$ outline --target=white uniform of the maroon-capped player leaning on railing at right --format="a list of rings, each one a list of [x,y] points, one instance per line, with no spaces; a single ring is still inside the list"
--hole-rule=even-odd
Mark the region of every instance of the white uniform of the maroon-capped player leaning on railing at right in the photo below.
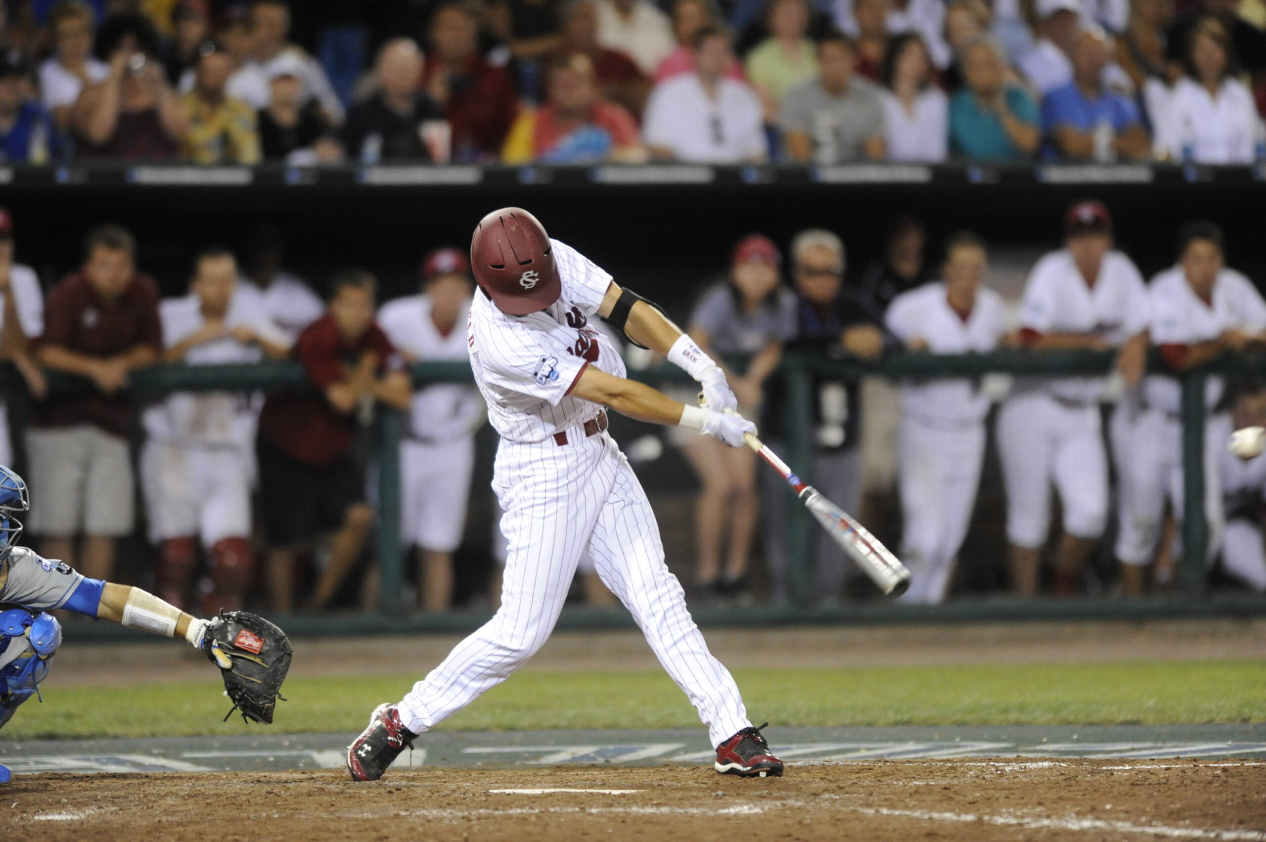
[[[1029,273],[1020,327],[1037,333],[1098,336],[1120,346],[1147,329],[1143,277],[1125,254],[1109,251],[1087,284],[1067,249],[1051,252]],[[1098,538],[1108,520],[1108,457],[1099,399],[1104,377],[1018,377],[998,417],[1006,486],[1006,537],[1039,547],[1050,527],[1051,486],[1063,505],[1063,529]],[[1124,412],[1120,408],[1118,412]],[[1115,430],[1128,430],[1113,423]],[[1115,447],[1114,455],[1119,456]]]

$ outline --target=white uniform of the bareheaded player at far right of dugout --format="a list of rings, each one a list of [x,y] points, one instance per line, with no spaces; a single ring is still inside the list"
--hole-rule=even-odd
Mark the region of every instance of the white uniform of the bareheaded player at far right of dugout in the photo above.
[[[1266,329],[1266,301],[1252,282],[1239,272],[1222,270],[1213,284],[1210,301],[1203,301],[1191,289],[1181,267],[1166,270],[1152,279],[1152,343],[1190,346],[1212,342],[1231,328]],[[1212,410],[1222,398],[1222,377],[1209,376],[1205,408]],[[1175,518],[1182,517],[1182,419],[1181,386],[1172,377],[1151,375],[1143,386],[1146,409],[1138,422],[1132,460],[1131,517],[1122,519],[1117,557],[1127,565],[1151,561],[1169,498]],[[1208,557],[1213,558],[1222,542],[1224,515],[1220,462],[1225,453],[1229,425],[1223,414],[1210,414],[1205,423],[1204,514],[1209,524]],[[1146,455],[1146,458],[1144,458]]]

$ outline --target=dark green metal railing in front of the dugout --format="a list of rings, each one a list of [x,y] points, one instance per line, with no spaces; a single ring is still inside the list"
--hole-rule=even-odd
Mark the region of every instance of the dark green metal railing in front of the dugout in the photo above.
[[[825,360],[822,357],[787,353],[781,363],[781,376],[787,385],[787,419],[786,419],[786,458],[794,465],[805,481],[812,482],[813,443],[812,443],[812,381],[815,375],[829,375],[843,380],[855,380],[867,376],[884,376],[895,380],[903,377],[963,377],[980,376],[985,374],[1010,374],[1010,375],[1103,375],[1113,365],[1113,352],[1090,351],[1022,351],[1008,349],[986,355],[928,355],[928,353],[901,353],[885,357],[876,362],[863,362],[856,358]],[[1153,603],[1156,605],[1188,605],[1190,613],[1194,603],[1204,595],[1205,585],[1205,546],[1208,543],[1208,524],[1204,514],[1204,425],[1205,425],[1205,380],[1210,375],[1257,375],[1266,374],[1266,356],[1238,355],[1217,360],[1212,363],[1194,368],[1182,374],[1169,371],[1163,363],[1153,355],[1148,370],[1151,374],[1162,374],[1179,380],[1182,387],[1181,419],[1184,427],[1182,462],[1185,477],[1184,517],[1182,517],[1182,562],[1179,574],[1179,588],[1175,596]],[[424,362],[414,365],[410,375],[415,385],[429,382],[471,382],[470,366],[465,362]],[[630,376],[646,382],[657,384],[666,381],[689,381],[686,375],[675,366],[657,366],[641,371],[632,371]],[[65,394],[77,390],[91,389],[90,382],[82,377],[49,372],[49,390],[54,394]],[[20,377],[9,367],[0,367],[0,389],[6,395],[10,406],[18,412],[13,413],[16,419],[22,419],[23,403],[29,400]],[[139,370],[130,376],[130,390],[134,403],[141,403],[176,390],[282,390],[310,389],[304,371],[298,362],[265,362],[260,365],[222,365],[222,366],[185,366],[161,365]],[[381,574],[381,593],[379,609],[381,615],[392,617],[389,625],[391,628],[454,628],[465,629],[472,625],[473,620],[456,619],[446,620],[432,617],[419,619],[417,617],[400,624],[400,617],[409,612],[403,601],[404,585],[404,553],[400,539],[400,465],[399,447],[404,428],[404,414],[380,406],[376,419],[377,456],[379,456],[379,519],[376,533],[376,556]],[[14,438],[20,438],[19,425],[14,428]],[[37,503],[38,504],[38,503]],[[791,506],[791,522],[789,523],[790,541],[790,570],[789,585],[793,595],[801,601],[808,601],[812,594],[812,542],[813,524],[801,506]],[[1263,613],[1266,600],[1234,601],[1231,605],[1232,613]],[[1119,606],[1118,606],[1119,608]],[[1125,606],[1124,613],[1133,614],[1137,608]],[[914,609],[913,612],[910,609]],[[923,609],[923,610],[920,610]],[[1103,610],[1103,609],[1099,609]],[[1206,608],[1196,609],[1204,613]],[[862,606],[846,608],[839,612],[806,612],[795,606],[779,606],[767,609],[763,614],[768,622],[794,622],[808,619],[846,619],[866,618],[885,619],[889,614],[905,618],[917,618],[922,614],[928,617],[957,617],[961,610],[953,606]],[[967,612],[971,613],[970,609]],[[1055,612],[1056,615],[1087,615],[1094,614],[1085,608],[1072,608]],[[1122,613],[1122,610],[1115,610]],[[986,612],[991,615],[1050,615],[1050,612],[1025,612],[1015,604],[1004,603],[995,612]],[[705,614],[706,617],[706,614]],[[744,612],[744,618],[753,617]],[[600,613],[580,612],[573,614],[573,622],[581,624],[609,624],[609,618],[603,618]],[[99,625],[99,624],[97,624]],[[360,623],[341,628],[354,629],[381,629],[382,619],[361,615]],[[298,628],[306,628],[309,632],[327,631],[327,627],[318,627],[315,623],[298,624]]]

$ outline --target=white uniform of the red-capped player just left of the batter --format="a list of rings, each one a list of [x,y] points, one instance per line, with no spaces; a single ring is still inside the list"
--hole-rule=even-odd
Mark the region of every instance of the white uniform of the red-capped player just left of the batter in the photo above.
[[[379,310],[379,327],[414,360],[467,361],[470,304],[456,327],[441,333],[430,318],[430,298],[410,295]],[[473,386],[438,382],[413,393],[409,429],[400,442],[400,527],[409,543],[452,552],[461,543],[475,468],[475,430],[484,401]]]

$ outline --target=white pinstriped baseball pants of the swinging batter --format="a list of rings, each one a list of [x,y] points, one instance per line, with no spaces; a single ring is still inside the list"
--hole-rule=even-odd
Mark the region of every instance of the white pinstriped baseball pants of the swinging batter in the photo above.
[[[752,723],[729,671],[708,651],[685,593],[663,563],[655,513],[628,460],[605,432],[570,442],[501,442],[492,489],[509,541],[501,608],[457,644],[400,703],[422,733],[496,686],[549,637],[581,552],[637,622],[660,663],[690,698],[713,745]]]

